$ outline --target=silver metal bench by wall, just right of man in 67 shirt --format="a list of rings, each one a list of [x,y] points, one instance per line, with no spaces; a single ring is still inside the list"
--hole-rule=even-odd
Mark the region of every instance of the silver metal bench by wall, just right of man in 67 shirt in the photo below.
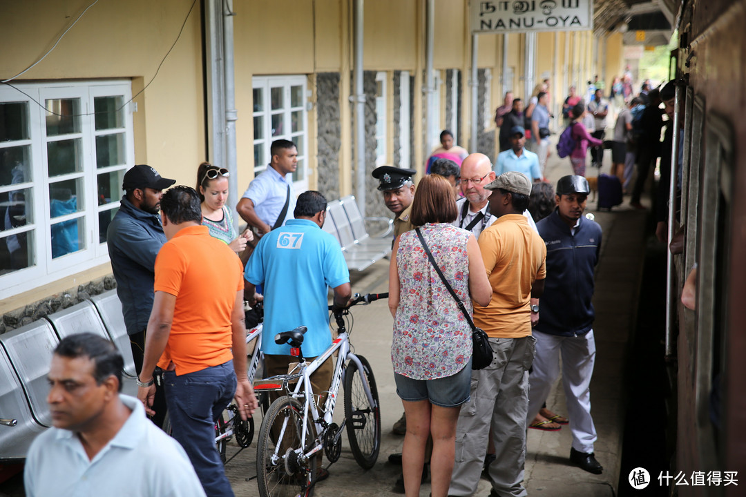
[[[387,244],[381,244],[383,240],[369,238],[367,232],[360,238],[355,236],[342,200],[335,200],[327,205],[327,218],[327,223],[331,221],[334,224],[337,239],[342,245],[345,262],[350,270],[365,270],[391,253],[390,240]]]

